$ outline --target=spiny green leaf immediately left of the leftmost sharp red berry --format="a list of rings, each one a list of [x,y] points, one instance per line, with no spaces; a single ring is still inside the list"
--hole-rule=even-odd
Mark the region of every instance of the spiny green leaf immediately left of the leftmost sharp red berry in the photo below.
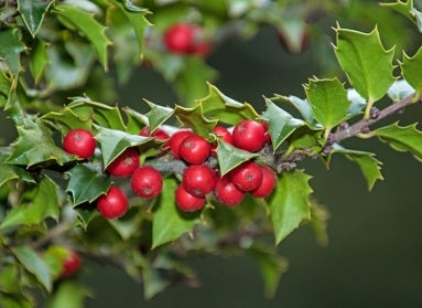
[[[7,163],[24,164],[28,167],[41,162],[55,161],[59,166],[75,158],[58,148],[51,136],[51,130],[39,119],[24,119],[18,126],[18,140],[12,145],[12,152]]]

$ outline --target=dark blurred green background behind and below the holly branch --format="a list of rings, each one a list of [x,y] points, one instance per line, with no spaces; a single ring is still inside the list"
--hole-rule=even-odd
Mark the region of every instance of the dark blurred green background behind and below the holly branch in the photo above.
[[[307,78],[323,74],[316,50],[311,44],[303,54],[291,55],[272,29],[262,29],[251,40],[218,46],[207,62],[219,72],[216,85],[226,95],[260,109],[262,95],[304,96]],[[329,56],[334,60],[334,53]],[[121,88],[119,104],[141,108],[142,98],[176,103],[170,86],[149,68],[139,68]],[[421,108],[411,106],[396,119],[418,121]],[[368,192],[358,167],[343,157],[334,157],[329,170],[320,161],[300,164],[313,176],[315,197],[331,212],[329,243],[318,246],[305,226],[282,242],[279,251],[289,259],[289,270],[273,299],[264,298],[255,262],[234,255],[193,261],[199,288],[181,284],[151,300],[122,272],[91,265],[84,273],[94,293],[87,307],[422,307],[422,166],[377,140],[346,145],[351,144],[377,152],[386,180]]]

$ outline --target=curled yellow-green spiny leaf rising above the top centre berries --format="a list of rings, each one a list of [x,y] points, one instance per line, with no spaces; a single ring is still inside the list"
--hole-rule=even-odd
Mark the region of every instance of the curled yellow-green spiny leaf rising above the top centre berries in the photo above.
[[[259,118],[250,104],[242,104],[226,96],[212,84],[208,84],[208,95],[199,99],[199,103],[205,117],[218,119],[229,125],[236,125],[244,119]]]

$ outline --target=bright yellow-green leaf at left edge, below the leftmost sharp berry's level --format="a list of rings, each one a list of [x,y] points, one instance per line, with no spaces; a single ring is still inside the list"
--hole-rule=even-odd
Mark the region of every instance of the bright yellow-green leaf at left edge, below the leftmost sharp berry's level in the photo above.
[[[46,217],[58,219],[58,188],[44,177],[40,183],[23,193],[19,206],[13,208],[0,224],[0,229],[17,225],[40,224]]]

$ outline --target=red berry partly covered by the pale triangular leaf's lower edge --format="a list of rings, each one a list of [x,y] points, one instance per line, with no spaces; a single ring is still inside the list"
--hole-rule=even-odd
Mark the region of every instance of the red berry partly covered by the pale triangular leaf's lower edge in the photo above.
[[[241,191],[252,191],[262,182],[262,168],[248,160],[229,172],[230,181]]]

